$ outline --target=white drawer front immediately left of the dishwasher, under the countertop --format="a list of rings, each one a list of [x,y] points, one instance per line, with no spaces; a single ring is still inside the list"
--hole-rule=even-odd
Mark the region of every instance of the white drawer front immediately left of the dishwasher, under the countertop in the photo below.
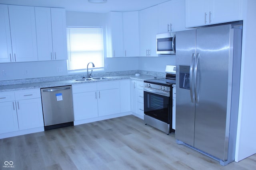
[[[41,98],[40,89],[22,90],[22,91],[15,92],[16,100],[25,100],[25,99],[34,99],[34,98]]]

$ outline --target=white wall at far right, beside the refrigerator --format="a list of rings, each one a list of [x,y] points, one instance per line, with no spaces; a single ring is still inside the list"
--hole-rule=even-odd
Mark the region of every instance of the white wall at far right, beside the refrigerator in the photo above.
[[[256,1],[242,0],[242,2],[244,24],[236,162],[256,153],[256,88],[254,87],[256,84]]]

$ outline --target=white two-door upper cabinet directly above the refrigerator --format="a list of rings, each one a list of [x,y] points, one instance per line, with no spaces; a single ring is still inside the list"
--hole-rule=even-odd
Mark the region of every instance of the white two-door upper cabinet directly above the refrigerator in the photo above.
[[[241,0],[185,0],[186,27],[241,20]]]

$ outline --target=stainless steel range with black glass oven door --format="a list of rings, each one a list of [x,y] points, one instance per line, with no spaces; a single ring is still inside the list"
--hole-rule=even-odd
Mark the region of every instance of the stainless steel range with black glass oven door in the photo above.
[[[166,66],[166,78],[144,80],[144,123],[169,134],[172,129],[172,84],[176,66]]]

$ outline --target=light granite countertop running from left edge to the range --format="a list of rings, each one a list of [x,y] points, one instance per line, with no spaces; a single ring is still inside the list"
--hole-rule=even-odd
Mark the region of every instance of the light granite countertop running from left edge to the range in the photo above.
[[[122,75],[122,76],[108,76],[110,79],[104,80],[89,80],[85,82],[76,82],[74,80],[58,80],[58,81],[46,81],[46,82],[32,82],[32,83],[23,83],[23,84],[10,84],[0,86],[0,92],[10,92],[16,90],[29,90],[36,88],[49,88],[49,87],[57,87],[57,86],[68,86],[74,84],[84,84],[84,83],[96,83],[96,82],[106,82],[106,81],[114,81],[114,80],[150,80],[154,78],[164,78],[161,76],[151,76],[151,75],[140,75],[135,76],[132,75]]]

